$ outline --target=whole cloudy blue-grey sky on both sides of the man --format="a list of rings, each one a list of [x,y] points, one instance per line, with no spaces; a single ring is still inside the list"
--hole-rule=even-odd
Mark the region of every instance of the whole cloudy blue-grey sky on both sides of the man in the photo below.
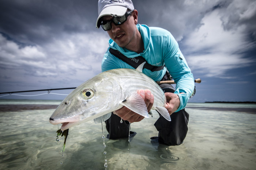
[[[195,79],[202,79],[189,102],[256,101],[255,0],[133,4],[140,24],[173,34]],[[95,27],[97,5],[97,0],[0,0],[0,92],[77,87],[100,73],[109,37]]]

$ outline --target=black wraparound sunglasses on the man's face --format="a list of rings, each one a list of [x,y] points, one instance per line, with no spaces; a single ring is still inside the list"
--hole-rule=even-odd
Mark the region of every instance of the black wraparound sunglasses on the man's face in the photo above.
[[[127,17],[132,14],[132,11],[127,11],[123,16],[114,16],[108,21],[101,21],[101,27],[103,30],[108,31],[112,29],[111,22],[113,22],[115,25],[121,25],[127,20]]]

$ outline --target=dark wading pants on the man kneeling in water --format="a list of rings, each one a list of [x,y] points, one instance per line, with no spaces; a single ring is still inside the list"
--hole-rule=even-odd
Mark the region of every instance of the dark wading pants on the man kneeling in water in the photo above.
[[[160,87],[164,92],[175,91],[170,84],[161,84]],[[185,109],[182,109],[179,112],[173,113],[170,117],[172,121],[169,122],[160,115],[155,122],[155,128],[159,132],[158,141],[168,146],[180,145],[188,132],[189,114]],[[123,121],[123,123],[120,123],[120,120],[120,117],[112,113],[111,117],[105,121],[106,129],[109,132],[109,139],[121,139],[129,136],[129,122]],[[136,132],[130,133],[131,136],[136,134]]]

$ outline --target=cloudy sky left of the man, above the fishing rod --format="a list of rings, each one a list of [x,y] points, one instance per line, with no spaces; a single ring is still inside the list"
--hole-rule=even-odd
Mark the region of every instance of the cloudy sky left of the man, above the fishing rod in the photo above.
[[[97,1],[0,0],[1,90],[78,86],[99,73],[108,35],[97,13]]]

